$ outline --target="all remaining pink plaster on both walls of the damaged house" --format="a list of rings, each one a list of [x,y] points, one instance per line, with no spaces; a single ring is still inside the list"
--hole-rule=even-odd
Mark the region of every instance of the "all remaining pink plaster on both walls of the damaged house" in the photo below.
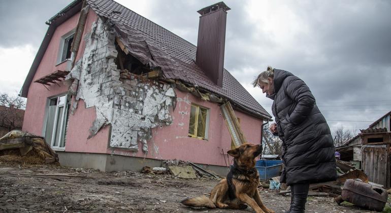
[[[68,87],[59,83],[51,85],[49,91],[41,84],[34,83],[35,80],[53,73],[60,69],[63,64],[56,66],[57,55],[60,47],[60,38],[77,25],[79,14],[74,15],[69,20],[57,27],[53,38],[42,58],[37,69],[33,82],[30,85],[26,106],[26,113],[23,122],[23,130],[41,135],[45,118],[45,107],[48,97],[57,96],[66,93]],[[84,34],[91,29],[92,23],[97,19],[96,14],[90,10],[85,25]],[[85,42],[82,39],[77,60],[83,55]],[[66,141],[67,152],[86,152],[86,153],[107,153],[125,156],[146,157],[152,159],[178,159],[192,161],[194,163],[204,163],[211,165],[225,166],[224,155],[231,148],[231,137],[225,126],[218,104],[202,101],[200,98],[176,90],[177,105],[172,113],[173,124],[170,126],[157,127],[152,130],[153,138],[148,141],[149,152],[145,155],[141,151],[130,152],[123,149],[108,148],[110,126],[102,128],[92,138],[87,139],[89,128],[95,119],[95,109],[85,109],[83,100],[78,101],[78,108],[74,115],[70,114],[69,126]],[[208,139],[188,137],[188,126],[190,118],[190,104],[199,104],[209,109],[209,129]],[[248,141],[257,144],[260,141],[260,128],[262,120],[253,118],[246,114],[236,111],[237,117],[241,120],[242,130]],[[232,158],[230,158],[232,159]],[[229,163],[229,162],[227,162]]]

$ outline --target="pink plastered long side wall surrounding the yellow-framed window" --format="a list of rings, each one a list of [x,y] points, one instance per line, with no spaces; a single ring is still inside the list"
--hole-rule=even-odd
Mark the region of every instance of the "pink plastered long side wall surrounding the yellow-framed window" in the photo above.
[[[141,149],[136,154],[110,148],[107,150],[107,153],[153,159],[178,159],[194,163],[225,166],[222,153],[224,152],[226,158],[226,152],[231,149],[231,136],[221,115],[219,105],[210,101],[202,101],[190,93],[184,93],[179,90],[176,90],[176,94],[177,105],[172,114],[173,124],[152,130],[153,138],[148,141],[149,152],[147,155]],[[191,103],[196,103],[209,109],[209,137],[207,140],[187,136]],[[235,114],[241,120],[241,127],[247,141],[259,144],[260,128],[263,121],[238,111],[235,111]]]

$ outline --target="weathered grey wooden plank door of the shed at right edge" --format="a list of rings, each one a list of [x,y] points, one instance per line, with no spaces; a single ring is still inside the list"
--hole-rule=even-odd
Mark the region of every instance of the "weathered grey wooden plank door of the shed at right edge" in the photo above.
[[[363,169],[371,182],[387,184],[387,147],[386,145],[365,145],[362,147]]]

